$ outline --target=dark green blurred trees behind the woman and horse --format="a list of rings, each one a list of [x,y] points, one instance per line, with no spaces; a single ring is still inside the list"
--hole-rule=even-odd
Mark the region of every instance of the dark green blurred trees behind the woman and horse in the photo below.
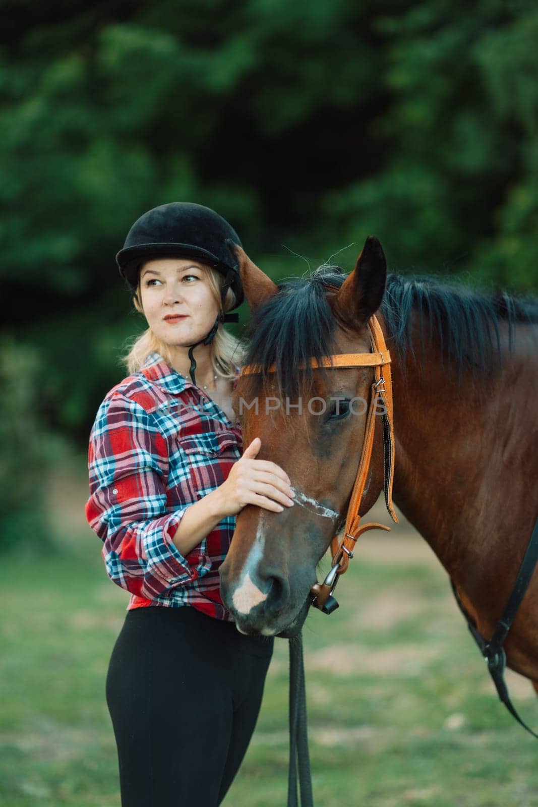
[[[304,272],[292,252],[317,266],[342,250],[350,270],[372,233],[392,270],[538,288],[536,4],[7,0],[0,15],[5,324],[40,357],[48,424],[79,445],[144,328],[114,258],[157,204],[214,207],[274,278]]]

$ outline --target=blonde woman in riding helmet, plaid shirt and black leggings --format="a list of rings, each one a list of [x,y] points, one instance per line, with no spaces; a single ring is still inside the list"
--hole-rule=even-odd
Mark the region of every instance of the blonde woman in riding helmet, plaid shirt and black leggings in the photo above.
[[[106,700],[123,807],[215,807],[252,736],[273,638],[236,630],[219,566],[246,504],[293,504],[290,479],[241,456],[230,406],[240,345],[224,331],[243,292],[215,211],[171,203],[133,224],[117,261],[148,322],[90,434],[87,520],[131,593]]]

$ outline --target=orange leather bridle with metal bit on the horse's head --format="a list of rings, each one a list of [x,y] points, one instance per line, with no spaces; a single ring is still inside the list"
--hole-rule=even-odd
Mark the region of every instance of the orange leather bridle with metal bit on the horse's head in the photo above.
[[[333,592],[336,583],[345,571],[348,570],[349,561],[353,557],[355,545],[369,529],[385,529],[390,532],[390,527],[378,524],[377,521],[360,525],[362,495],[365,490],[365,482],[369,473],[370,462],[372,460],[373,435],[375,421],[377,417],[382,417],[383,422],[383,454],[384,454],[384,489],[386,508],[395,524],[398,518],[394,512],[392,504],[392,484],[394,479],[394,419],[392,403],[392,379],[390,375],[390,352],[386,349],[385,337],[382,328],[375,316],[370,317],[368,323],[369,337],[372,344],[372,353],[337,353],[323,358],[321,362],[311,359],[311,367],[373,367],[374,381],[371,387],[371,396],[368,415],[366,416],[365,439],[362,445],[361,460],[357,468],[357,477],[349,501],[348,515],[346,517],[344,537],[341,539],[336,535],[331,541],[332,568],[323,583],[315,583],[311,587],[314,595],[312,605],[319,608],[324,613],[332,613],[338,608],[338,603],[334,599]],[[274,364],[269,367],[269,372],[274,372]],[[256,365],[248,365],[242,368],[241,375],[259,373],[261,370]],[[378,404],[382,407],[377,411]]]

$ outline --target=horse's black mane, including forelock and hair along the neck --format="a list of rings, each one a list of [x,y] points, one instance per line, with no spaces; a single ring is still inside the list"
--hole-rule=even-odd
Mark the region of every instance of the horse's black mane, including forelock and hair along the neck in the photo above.
[[[275,394],[280,398],[292,398],[311,387],[307,360],[336,352],[336,321],[327,303],[327,285],[340,287],[346,277],[339,266],[323,264],[307,277],[282,282],[280,293],[252,314],[244,363],[260,366],[261,375],[248,377],[252,383],[249,394],[254,394],[260,382],[265,383],[273,362],[277,366]],[[456,370],[459,381],[465,370],[484,374],[502,366],[499,324],[508,324],[511,349],[516,323],[538,323],[538,299],[505,291],[488,294],[432,275],[389,274],[380,313],[398,358],[409,352],[417,361],[411,341],[412,312],[419,312],[421,366],[424,341],[436,339],[442,360],[447,359],[447,371]],[[298,370],[302,362],[307,366],[303,371]]]

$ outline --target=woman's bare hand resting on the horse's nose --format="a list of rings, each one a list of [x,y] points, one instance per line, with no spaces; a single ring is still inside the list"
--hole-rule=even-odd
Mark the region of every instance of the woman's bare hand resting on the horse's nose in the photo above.
[[[256,504],[273,512],[282,512],[282,505],[294,504],[290,477],[275,462],[255,459],[260,449],[261,439],[254,437],[243,456],[231,466],[226,482],[217,488],[222,503],[220,509],[225,515],[236,516],[246,504]]]

